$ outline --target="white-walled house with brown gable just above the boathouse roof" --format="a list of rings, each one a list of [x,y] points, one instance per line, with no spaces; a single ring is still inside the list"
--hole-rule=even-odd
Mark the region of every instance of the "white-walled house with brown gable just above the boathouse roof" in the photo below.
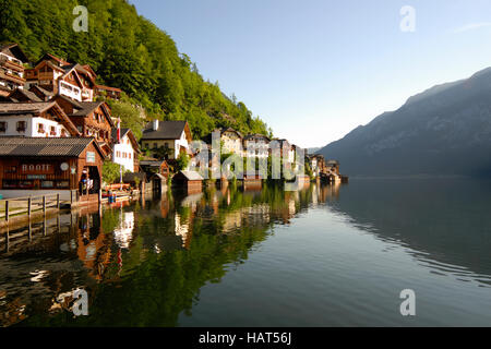
[[[0,136],[80,135],[75,124],[55,101],[0,104]]]

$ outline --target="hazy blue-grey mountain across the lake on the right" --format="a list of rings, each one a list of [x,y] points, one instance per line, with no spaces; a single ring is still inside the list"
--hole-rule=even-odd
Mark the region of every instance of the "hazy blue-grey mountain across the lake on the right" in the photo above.
[[[491,176],[491,68],[412,96],[319,154],[350,176]]]

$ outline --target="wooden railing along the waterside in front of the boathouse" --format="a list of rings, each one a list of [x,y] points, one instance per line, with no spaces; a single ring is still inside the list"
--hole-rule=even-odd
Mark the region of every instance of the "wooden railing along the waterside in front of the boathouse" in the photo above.
[[[0,200],[0,219],[7,222],[13,216],[32,216],[35,212],[46,215],[48,208],[60,209],[60,194],[47,194],[43,196],[26,196]]]

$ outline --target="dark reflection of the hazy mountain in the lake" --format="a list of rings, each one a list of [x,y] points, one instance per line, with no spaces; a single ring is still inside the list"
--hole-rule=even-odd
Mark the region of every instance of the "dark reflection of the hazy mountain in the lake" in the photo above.
[[[331,205],[352,224],[403,243],[442,273],[491,275],[491,182],[358,180]],[[458,274],[458,273],[457,273]]]

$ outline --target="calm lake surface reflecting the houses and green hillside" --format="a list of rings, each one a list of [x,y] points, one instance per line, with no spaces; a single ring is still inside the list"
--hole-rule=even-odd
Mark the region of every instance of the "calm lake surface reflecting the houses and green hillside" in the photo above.
[[[490,181],[354,179],[64,214],[1,232],[0,325],[491,326],[490,212]]]

